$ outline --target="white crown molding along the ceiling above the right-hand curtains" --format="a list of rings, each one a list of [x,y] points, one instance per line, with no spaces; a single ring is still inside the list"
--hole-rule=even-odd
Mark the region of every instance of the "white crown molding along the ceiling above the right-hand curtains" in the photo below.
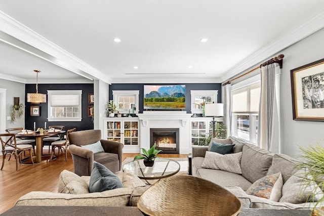
[[[244,72],[245,70],[252,68],[257,64],[261,64],[267,58],[273,57],[273,55],[277,54],[278,52],[324,28],[323,20],[324,12],[321,12],[308,21],[304,22],[302,25],[295,28],[290,33],[276,39],[274,42],[272,42],[272,44],[264,47],[260,51],[246,58],[245,61],[240,62],[230,70],[226,71],[225,75],[221,77],[222,82],[227,81],[235,75]],[[285,55],[285,53],[283,54]]]

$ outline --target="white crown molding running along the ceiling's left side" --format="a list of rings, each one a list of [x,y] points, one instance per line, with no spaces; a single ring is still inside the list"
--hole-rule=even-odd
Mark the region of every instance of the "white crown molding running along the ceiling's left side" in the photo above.
[[[88,65],[84,61],[66,52],[62,48],[55,45],[50,40],[46,39],[42,35],[39,35],[35,31],[31,30],[27,26],[23,25],[22,23],[18,22],[17,20],[13,19],[12,17],[8,16],[2,11],[0,11],[0,31],[5,32],[10,36],[15,37],[25,42],[26,44],[54,57],[54,59],[45,59],[53,64],[56,64],[78,75],[82,75],[82,73],[86,73],[89,74],[88,77],[92,76],[95,79],[100,79],[106,83],[111,83],[111,78],[106,74],[102,73],[101,71],[93,68],[92,66]],[[16,47],[20,48],[19,46]],[[71,65],[73,65],[74,67]]]

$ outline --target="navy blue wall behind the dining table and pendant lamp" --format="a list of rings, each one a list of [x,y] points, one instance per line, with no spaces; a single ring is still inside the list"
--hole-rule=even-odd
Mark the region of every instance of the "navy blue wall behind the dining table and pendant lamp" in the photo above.
[[[38,127],[44,127],[45,121],[47,127],[51,125],[64,125],[64,130],[76,127],[77,131],[83,131],[86,129],[93,129],[92,118],[88,116],[88,106],[91,106],[88,101],[88,94],[93,94],[93,84],[38,84],[38,93],[47,94],[47,90],[82,90],[82,121],[48,121],[48,103],[31,104],[25,101],[25,128],[33,129],[33,124],[36,122],[36,129]],[[35,84],[26,84],[25,92],[36,93]],[[39,106],[40,115],[30,116],[30,106]]]

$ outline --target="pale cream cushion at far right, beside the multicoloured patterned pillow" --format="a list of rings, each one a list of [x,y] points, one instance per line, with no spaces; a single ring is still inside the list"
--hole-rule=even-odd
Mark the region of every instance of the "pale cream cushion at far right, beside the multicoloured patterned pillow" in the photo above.
[[[318,188],[316,182],[305,184],[305,172],[298,170],[291,176],[287,182],[282,186],[282,196],[280,202],[290,203],[304,203],[304,202],[317,202],[324,196],[323,192]],[[307,181],[308,182],[308,181]],[[314,200],[308,200],[313,191],[316,191]]]

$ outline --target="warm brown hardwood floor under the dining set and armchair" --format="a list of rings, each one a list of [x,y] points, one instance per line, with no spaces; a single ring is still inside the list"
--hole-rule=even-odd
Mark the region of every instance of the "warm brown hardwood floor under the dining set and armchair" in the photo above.
[[[44,153],[48,150],[44,149]],[[14,206],[16,200],[22,195],[31,191],[57,192],[58,180],[61,171],[64,169],[74,171],[71,154],[68,152],[67,161],[64,155],[51,162],[44,162],[34,165],[19,165],[16,171],[15,158],[8,161],[6,157],[3,170],[0,170],[0,214]],[[126,157],[134,157],[134,154],[123,154]],[[187,157],[185,154],[159,154],[159,157]],[[2,156],[0,161],[2,163]]]

